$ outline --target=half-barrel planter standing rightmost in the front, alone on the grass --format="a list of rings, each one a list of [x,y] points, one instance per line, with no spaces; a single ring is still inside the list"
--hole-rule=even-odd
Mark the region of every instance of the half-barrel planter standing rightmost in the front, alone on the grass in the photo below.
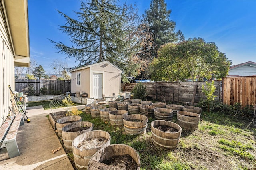
[[[168,129],[168,131],[159,130],[159,127]],[[170,121],[155,120],[151,122],[152,142],[155,146],[164,150],[175,150],[177,148],[181,131],[182,128],[178,124]]]

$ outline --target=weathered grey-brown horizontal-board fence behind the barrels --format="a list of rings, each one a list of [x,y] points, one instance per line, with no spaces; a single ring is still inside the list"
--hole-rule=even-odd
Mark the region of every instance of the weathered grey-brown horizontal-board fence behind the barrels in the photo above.
[[[146,86],[146,95],[152,97],[157,101],[171,102],[171,103],[185,103],[196,104],[200,99],[206,99],[202,92],[202,84],[205,82],[150,82],[143,83]],[[214,85],[216,91],[214,95],[215,100],[221,100],[221,82],[215,81]],[[136,83],[122,84],[123,91],[132,91]]]

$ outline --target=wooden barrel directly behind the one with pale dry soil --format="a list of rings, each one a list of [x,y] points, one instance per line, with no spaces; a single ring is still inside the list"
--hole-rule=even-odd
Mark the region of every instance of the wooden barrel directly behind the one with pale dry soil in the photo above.
[[[84,129],[84,130],[83,130]],[[91,122],[75,122],[62,128],[63,144],[67,150],[72,150],[72,142],[76,136],[93,130]]]

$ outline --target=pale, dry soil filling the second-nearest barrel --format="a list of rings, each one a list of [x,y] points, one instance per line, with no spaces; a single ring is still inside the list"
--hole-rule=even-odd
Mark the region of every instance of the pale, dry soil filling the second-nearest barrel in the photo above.
[[[90,138],[87,140],[83,140],[82,143],[78,144],[78,148],[80,149],[92,149],[102,146],[104,143],[108,142],[107,138],[100,137],[100,138]]]

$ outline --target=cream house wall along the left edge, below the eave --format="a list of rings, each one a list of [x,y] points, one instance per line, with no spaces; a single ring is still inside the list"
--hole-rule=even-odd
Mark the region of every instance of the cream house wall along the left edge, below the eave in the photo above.
[[[14,90],[14,55],[11,43],[6,30],[6,22],[0,12],[0,126],[9,113],[10,90],[8,85]]]

